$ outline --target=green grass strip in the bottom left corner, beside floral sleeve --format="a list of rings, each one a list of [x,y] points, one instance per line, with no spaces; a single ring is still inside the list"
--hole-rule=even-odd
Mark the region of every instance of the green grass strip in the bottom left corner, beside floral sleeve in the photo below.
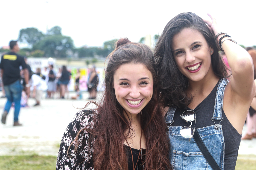
[[[0,156],[0,169],[49,170],[55,169],[57,157],[32,155]]]

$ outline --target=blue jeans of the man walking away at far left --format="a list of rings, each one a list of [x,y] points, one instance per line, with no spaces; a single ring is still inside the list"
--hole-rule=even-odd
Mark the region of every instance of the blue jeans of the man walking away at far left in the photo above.
[[[4,111],[9,113],[12,103],[15,103],[14,106],[14,121],[18,121],[19,110],[20,110],[20,100],[21,100],[21,92],[22,86],[20,81],[17,80],[12,84],[4,86],[5,96],[7,97],[7,102],[4,107]]]

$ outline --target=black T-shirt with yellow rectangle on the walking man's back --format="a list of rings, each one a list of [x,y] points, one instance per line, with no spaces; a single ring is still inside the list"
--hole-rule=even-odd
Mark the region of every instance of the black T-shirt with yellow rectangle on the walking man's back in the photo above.
[[[15,52],[8,52],[2,55],[0,69],[4,70],[3,83],[4,85],[12,84],[20,78],[20,69],[27,68],[24,57],[16,54]]]

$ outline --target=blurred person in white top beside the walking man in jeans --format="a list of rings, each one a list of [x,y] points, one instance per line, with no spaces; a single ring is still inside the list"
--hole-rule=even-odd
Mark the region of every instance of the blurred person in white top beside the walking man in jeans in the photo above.
[[[40,68],[37,68],[37,72],[40,72]],[[42,75],[43,76],[43,75]],[[31,91],[32,91],[32,97],[36,99],[36,104],[34,106],[39,106],[40,101],[42,99],[43,91],[48,89],[48,86],[45,82],[45,80],[37,74],[32,74],[31,79]]]

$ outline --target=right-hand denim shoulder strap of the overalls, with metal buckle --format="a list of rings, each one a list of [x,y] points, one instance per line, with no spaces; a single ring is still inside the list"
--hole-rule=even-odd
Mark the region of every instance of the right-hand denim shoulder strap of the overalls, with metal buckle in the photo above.
[[[227,84],[228,84],[228,80],[226,79],[221,79],[219,81],[212,120],[223,120],[222,105],[223,105],[224,90]]]

